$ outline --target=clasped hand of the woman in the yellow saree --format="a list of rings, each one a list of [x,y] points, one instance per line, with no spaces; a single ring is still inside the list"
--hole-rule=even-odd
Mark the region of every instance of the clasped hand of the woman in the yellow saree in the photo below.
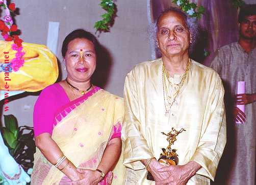
[[[85,184],[85,185],[97,185],[99,181],[102,180],[102,177],[100,177],[100,173],[96,170],[85,170],[85,169],[79,169],[78,172],[80,172],[80,180],[73,181],[71,184]]]

